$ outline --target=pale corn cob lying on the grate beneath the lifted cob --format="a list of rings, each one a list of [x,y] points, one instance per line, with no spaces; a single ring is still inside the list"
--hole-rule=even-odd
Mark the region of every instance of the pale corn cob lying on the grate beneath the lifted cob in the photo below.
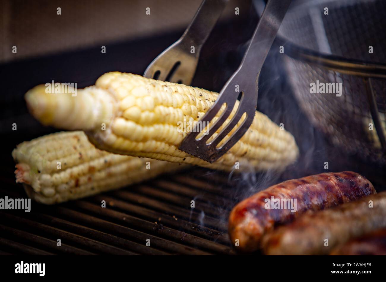
[[[58,132],[13,150],[16,182],[30,198],[54,204],[117,189],[185,165],[98,150],[83,131]]]

